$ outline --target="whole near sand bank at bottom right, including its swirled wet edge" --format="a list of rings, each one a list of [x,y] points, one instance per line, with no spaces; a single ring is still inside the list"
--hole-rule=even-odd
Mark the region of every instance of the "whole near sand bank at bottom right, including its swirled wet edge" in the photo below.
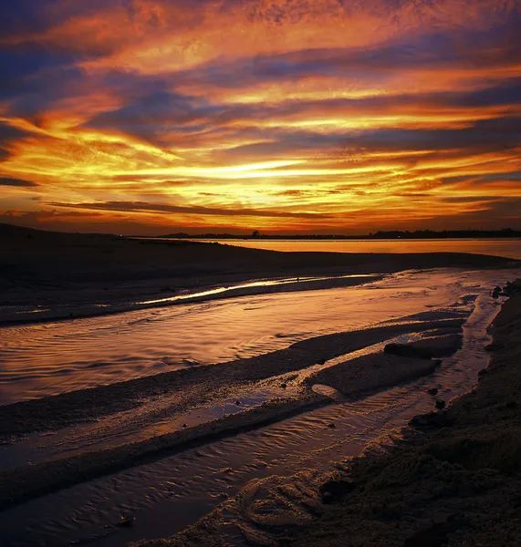
[[[140,545],[521,545],[520,332],[516,295],[495,320],[490,366],[448,410],[413,418],[386,449],[370,447],[328,476],[252,481],[185,532]]]

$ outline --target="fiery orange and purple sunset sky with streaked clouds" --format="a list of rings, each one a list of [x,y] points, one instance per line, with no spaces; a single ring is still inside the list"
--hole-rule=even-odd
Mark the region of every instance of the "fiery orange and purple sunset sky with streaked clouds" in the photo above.
[[[0,4],[0,222],[521,229],[521,0]]]

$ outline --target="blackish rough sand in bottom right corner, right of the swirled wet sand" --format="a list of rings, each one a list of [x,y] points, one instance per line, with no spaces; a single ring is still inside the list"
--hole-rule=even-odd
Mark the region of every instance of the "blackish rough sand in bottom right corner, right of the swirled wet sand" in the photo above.
[[[495,321],[478,386],[437,419],[413,419],[389,453],[355,459],[353,490],[281,541],[305,546],[521,545],[521,295]]]

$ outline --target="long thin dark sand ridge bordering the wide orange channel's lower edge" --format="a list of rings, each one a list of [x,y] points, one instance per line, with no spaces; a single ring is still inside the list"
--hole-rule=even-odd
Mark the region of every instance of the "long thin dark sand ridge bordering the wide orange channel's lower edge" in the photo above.
[[[234,386],[295,372],[404,333],[460,327],[464,319],[443,312],[431,321],[404,321],[362,331],[308,338],[287,349],[219,365],[193,366],[127,382],[22,401],[0,407],[0,438],[55,430],[139,407],[147,397],[175,396],[176,408],[222,397]]]

